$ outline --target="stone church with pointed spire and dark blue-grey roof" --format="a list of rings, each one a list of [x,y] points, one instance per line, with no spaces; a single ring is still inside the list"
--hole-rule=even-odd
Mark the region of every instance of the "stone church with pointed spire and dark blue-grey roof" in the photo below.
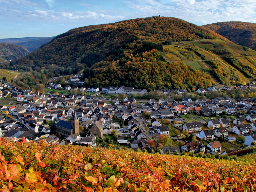
[[[71,118],[71,122],[60,120],[56,124],[56,133],[57,135],[60,134],[66,138],[69,135],[79,133],[79,120],[76,117],[76,111],[74,111],[74,115]]]

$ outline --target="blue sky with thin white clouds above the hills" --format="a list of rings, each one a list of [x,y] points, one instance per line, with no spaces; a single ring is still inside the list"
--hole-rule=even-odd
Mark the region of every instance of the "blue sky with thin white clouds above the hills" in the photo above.
[[[57,36],[76,27],[151,16],[196,25],[256,22],[256,0],[0,0],[0,39]]]

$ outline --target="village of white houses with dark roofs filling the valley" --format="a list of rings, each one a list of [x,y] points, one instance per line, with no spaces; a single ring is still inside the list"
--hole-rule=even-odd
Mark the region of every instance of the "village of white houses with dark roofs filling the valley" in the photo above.
[[[72,79],[72,78],[71,78]],[[60,84],[52,83],[54,89]],[[209,87],[196,92],[252,89],[254,85]],[[182,100],[160,98],[138,101],[146,89],[125,86],[80,87],[63,89],[82,94],[53,94],[21,90],[2,84],[0,99],[16,101],[1,105],[0,137],[44,140],[49,144],[129,148],[134,151],[180,154],[195,152],[225,155],[255,146],[255,97],[217,97],[196,99],[187,90],[172,92]],[[57,90],[58,91],[58,90]],[[84,95],[92,92],[91,95]],[[113,95],[113,99],[103,94]],[[184,96],[186,95],[186,97]]]

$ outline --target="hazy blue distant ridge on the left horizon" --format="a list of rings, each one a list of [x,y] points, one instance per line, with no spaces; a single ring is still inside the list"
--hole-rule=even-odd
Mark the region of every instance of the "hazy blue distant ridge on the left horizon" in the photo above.
[[[0,43],[13,43],[25,47],[29,52],[39,49],[41,45],[48,43],[54,37],[25,37],[0,39]]]

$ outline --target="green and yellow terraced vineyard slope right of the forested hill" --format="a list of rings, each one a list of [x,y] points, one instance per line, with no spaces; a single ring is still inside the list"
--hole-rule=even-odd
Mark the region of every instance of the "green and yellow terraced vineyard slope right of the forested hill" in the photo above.
[[[219,85],[242,85],[256,81],[253,71],[256,66],[256,51],[253,49],[220,39],[173,42],[163,48],[167,61],[181,61],[187,66],[208,73]],[[242,70],[225,59],[226,57],[236,58]]]

